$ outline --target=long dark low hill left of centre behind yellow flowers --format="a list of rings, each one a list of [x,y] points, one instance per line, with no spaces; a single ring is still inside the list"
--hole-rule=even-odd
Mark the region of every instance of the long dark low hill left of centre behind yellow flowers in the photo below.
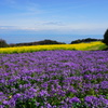
[[[43,45],[43,44],[66,44],[64,42],[57,42],[54,40],[42,40],[36,42],[26,42],[26,43],[12,43],[10,46],[23,46],[23,45]]]

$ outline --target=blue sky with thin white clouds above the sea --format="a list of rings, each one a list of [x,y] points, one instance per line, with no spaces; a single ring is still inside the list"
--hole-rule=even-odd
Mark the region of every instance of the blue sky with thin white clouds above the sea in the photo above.
[[[108,0],[0,0],[0,32],[103,35]]]

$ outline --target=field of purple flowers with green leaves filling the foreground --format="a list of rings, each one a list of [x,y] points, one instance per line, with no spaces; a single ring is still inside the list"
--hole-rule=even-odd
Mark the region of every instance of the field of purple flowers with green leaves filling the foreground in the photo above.
[[[0,54],[0,108],[108,108],[108,51]]]

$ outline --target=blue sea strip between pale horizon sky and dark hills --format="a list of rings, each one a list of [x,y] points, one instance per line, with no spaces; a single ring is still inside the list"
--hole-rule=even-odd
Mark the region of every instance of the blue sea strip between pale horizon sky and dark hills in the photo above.
[[[37,33],[0,33],[0,39],[6,41],[6,43],[26,43],[26,42],[35,42],[42,40],[54,40],[58,42],[71,43],[73,40],[78,39],[103,39],[103,35],[37,35]]]

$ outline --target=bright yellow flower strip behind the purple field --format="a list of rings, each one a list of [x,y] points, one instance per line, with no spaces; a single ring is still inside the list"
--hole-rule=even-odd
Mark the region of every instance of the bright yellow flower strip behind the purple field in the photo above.
[[[12,53],[26,53],[26,52],[38,52],[38,51],[51,51],[51,50],[100,50],[106,45],[100,42],[90,43],[78,43],[78,44],[50,44],[50,45],[29,45],[29,46],[14,46],[14,48],[0,48],[0,53],[12,54]]]

